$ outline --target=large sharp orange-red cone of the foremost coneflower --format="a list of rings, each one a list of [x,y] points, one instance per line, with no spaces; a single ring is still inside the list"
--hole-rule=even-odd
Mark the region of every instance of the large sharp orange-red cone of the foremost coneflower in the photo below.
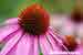
[[[49,14],[39,4],[28,7],[19,15],[19,24],[32,35],[44,34],[49,26]]]

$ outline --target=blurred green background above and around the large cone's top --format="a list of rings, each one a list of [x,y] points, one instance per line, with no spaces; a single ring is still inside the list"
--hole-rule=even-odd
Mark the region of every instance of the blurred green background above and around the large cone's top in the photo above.
[[[38,2],[50,13],[69,13],[75,0],[0,0],[0,22],[17,18],[25,7]]]

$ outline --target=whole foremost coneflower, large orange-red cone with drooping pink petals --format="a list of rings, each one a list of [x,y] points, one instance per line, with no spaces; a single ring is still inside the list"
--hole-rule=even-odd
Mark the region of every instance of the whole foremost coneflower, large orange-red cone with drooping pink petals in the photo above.
[[[18,18],[6,21],[0,29],[0,55],[49,55],[60,51],[60,40],[49,25],[49,14],[39,4],[28,7]]]

